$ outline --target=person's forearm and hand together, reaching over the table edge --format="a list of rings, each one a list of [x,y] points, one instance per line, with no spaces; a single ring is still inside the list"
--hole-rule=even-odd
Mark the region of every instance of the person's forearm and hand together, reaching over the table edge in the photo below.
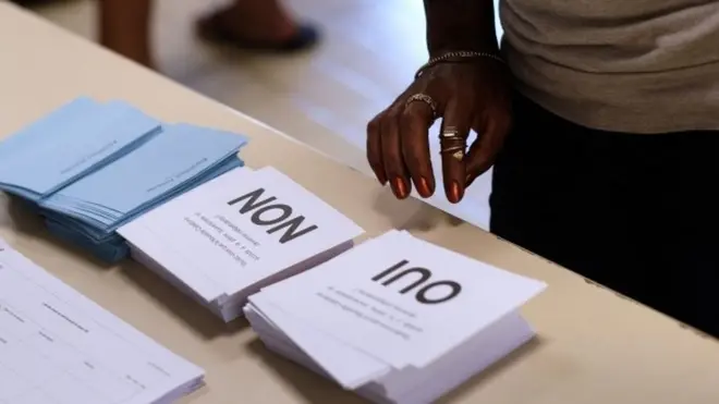
[[[449,51],[498,53],[492,0],[425,0],[427,46],[430,57]],[[390,184],[402,199],[412,186],[422,197],[435,192],[428,130],[431,108],[406,103],[415,94],[431,97],[442,118],[442,131],[478,139],[463,158],[442,155],[447,199],[459,203],[464,189],[495,161],[511,125],[511,102],[505,66],[491,58],[439,63],[409,88],[367,126],[367,159],[379,182]]]

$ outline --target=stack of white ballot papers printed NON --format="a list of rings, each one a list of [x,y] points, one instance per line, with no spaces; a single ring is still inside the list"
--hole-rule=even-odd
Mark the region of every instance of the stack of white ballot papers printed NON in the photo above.
[[[231,321],[248,295],[351,248],[363,230],[267,167],[232,170],[118,232],[137,261]]]

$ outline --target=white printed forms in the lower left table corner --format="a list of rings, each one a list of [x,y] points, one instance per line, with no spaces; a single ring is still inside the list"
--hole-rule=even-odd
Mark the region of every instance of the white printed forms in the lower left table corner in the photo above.
[[[203,379],[0,241],[0,403],[171,403]]]

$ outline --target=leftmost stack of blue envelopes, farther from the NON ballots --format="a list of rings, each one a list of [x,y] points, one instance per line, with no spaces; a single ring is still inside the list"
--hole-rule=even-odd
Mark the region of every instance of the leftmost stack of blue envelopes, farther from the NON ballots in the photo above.
[[[0,143],[0,188],[38,201],[160,131],[134,107],[80,98]]]

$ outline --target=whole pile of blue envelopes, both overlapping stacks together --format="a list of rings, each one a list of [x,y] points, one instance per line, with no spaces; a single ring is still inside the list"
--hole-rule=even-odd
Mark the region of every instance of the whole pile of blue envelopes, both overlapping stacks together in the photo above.
[[[114,262],[129,253],[119,227],[242,166],[245,144],[80,98],[0,143],[0,189],[38,206],[51,233]]]

